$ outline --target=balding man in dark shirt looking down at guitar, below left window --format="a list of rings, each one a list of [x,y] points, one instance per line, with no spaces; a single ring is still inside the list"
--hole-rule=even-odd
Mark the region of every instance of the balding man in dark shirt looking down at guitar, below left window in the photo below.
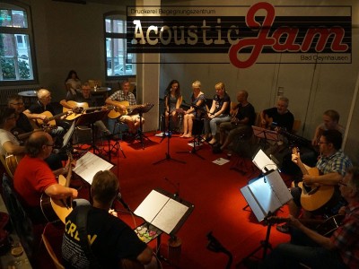
[[[39,89],[37,94],[38,100],[33,103],[30,108],[23,111],[23,114],[25,114],[29,119],[41,119],[46,122],[48,117],[43,114],[43,112],[48,111],[53,116],[56,115],[55,108],[51,105],[51,92],[47,89]],[[66,125],[66,122],[57,120],[56,128],[51,129],[50,134],[53,137],[57,137],[57,145],[61,145],[62,143],[62,138],[64,134],[66,134],[66,129],[69,127]]]

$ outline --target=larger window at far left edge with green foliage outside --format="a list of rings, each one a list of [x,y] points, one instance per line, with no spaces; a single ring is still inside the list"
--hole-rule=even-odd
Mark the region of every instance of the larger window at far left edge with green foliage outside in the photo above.
[[[0,3],[0,84],[34,81],[30,9],[16,1]]]

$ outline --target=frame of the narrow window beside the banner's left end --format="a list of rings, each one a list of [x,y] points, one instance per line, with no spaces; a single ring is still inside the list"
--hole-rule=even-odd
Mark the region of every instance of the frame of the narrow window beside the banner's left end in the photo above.
[[[107,48],[108,48],[108,42],[107,39],[124,39],[124,56],[127,57],[127,33],[123,32],[123,33],[115,33],[115,32],[107,32],[106,31],[106,20],[109,19],[109,17],[112,16],[118,16],[117,20],[121,20],[121,18],[123,17],[123,21],[126,22],[126,16],[127,13],[126,12],[121,12],[121,11],[114,11],[114,12],[109,12],[109,13],[104,13],[103,14],[103,33],[104,33],[104,41],[103,41],[103,48],[104,48],[104,61],[105,61],[105,77],[107,81],[116,81],[116,80],[124,80],[127,78],[133,78],[136,77],[136,74],[126,74],[126,64],[124,65],[124,71],[125,74],[121,74],[121,75],[108,75],[107,70],[108,70],[108,56],[107,56]],[[126,30],[125,30],[126,31]],[[109,47],[111,48],[111,52],[113,53],[113,42],[109,43]],[[135,68],[136,65],[132,64]]]

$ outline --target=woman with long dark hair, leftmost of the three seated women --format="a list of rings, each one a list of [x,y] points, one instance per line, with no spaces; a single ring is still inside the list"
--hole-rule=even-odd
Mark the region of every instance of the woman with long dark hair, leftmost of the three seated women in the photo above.
[[[178,125],[178,109],[182,103],[182,95],[180,94],[180,82],[172,80],[167,86],[166,91],[164,92],[164,103],[166,106],[166,111],[164,112],[166,130],[169,129],[169,118],[170,114],[172,117],[173,126]]]

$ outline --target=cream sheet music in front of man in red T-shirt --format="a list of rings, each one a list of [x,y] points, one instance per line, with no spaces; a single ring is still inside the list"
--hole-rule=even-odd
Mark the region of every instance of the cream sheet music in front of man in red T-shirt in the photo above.
[[[73,171],[91,185],[93,176],[98,171],[112,168],[113,164],[109,163],[109,161],[103,160],[92,152],[87,152],[76,161],[76,167]]]

